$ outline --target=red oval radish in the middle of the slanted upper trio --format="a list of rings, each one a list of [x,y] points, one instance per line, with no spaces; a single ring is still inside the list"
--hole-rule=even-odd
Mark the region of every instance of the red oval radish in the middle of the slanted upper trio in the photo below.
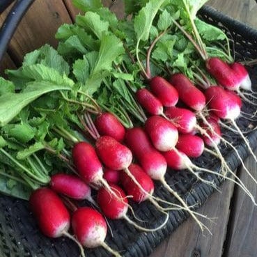
[[[178,102],[178,91],[163,77],[153,77],[149,82],[150,91],[162,102],[164,107],[175,106]]]

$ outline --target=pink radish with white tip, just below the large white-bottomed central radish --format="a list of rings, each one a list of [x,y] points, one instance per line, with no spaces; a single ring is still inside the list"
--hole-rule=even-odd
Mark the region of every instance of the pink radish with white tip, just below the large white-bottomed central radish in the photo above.
[[[192,162],[189,157],[187,157],[187,155],[182,153],[180,150],[169,150],[162,153],[162,155],[166,159],[168,167],[171,169],[181,170],[192,166]]]

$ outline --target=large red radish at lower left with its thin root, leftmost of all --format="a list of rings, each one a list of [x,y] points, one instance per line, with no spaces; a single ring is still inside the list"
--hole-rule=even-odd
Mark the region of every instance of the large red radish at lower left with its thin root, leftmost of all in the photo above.
[[[81,256],[85,257],[81,244],[68,233],[70,213],[56,193],[47,187],[36,189],[29,198],[29,204],[42,233],[54,238],[69,237],[77,243]]]

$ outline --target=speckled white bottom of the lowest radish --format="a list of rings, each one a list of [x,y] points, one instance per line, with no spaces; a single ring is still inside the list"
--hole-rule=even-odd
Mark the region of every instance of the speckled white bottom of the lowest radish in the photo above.
[[[95,248],[100,247],[106,237],[107,230],[103,226],[93,226],[82,240],[84,247]]]

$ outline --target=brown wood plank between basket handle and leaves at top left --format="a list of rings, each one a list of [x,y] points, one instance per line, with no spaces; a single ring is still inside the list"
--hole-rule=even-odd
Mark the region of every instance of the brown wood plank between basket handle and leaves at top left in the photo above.
[[[4,19],[4,15],[1,15]],[[61,0],[36,0],[20,22],[8,50],[17,65],[24,54],[45,43],[56,46],[54,34],[63,23],[70,23],[70,15]]]

